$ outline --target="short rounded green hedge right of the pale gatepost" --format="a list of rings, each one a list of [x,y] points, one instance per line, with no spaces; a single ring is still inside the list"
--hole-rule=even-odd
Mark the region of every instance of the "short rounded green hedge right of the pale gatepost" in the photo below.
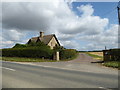
[[[60,59],[71,59],[77,56],[77,51],[75,49],[64,49],[60,52]]]

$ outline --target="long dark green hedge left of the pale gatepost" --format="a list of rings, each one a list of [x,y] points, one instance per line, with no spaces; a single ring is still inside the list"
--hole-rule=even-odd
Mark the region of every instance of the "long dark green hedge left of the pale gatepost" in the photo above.
[[[47,46],[27,47],[27,48],[11,48],[3,49],[2,56],[5,57],[32,57],[51,59],[53,50]]]

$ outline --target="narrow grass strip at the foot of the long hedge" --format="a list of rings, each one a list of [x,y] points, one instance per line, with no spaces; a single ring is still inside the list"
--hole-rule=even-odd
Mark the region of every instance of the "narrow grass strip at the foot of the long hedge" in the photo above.
[[[23,58],[23,57],[2,57],[3,61],[14,61],[14,62],[56,62],[56,60],[48,60],[41,58]]]

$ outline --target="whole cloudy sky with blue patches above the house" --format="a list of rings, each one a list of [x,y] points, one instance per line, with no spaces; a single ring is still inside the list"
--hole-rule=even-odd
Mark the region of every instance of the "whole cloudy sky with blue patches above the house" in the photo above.
[[[1,13],[0,13],[1,14]],[[1,15],[0,15],[1,16]],[[103,50],[118,46],[117,2],[4,2],[2,44],[25,44],[39,32],[55,34],[65,48]]]

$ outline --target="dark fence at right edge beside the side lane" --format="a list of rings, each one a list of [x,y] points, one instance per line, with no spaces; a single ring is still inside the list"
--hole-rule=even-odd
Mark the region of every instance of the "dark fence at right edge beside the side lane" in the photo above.
[[[120,49],[103,50],[104,61],[120,61]]]

